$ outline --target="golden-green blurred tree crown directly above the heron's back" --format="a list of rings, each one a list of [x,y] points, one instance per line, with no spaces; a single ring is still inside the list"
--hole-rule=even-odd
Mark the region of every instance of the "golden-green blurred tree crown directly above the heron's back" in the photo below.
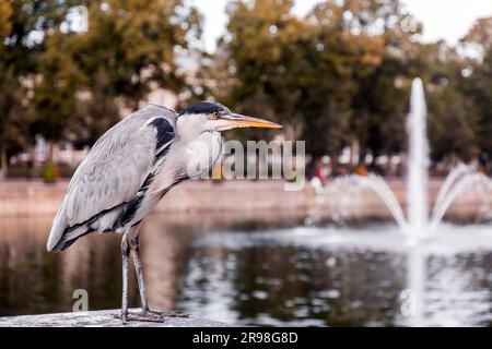
[[[89,31],[71,38],[73,59],[89,86],[104,71],[115,97],[139,107],[151,83],[177,91],[181,84],[176,50],[201,33],[198,13],[181,0],[91,2]]]

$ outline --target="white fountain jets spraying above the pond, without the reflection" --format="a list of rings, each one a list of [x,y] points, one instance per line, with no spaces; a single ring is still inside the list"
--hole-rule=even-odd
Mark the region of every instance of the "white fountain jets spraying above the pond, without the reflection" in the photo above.
[[[426,137],[426,106],[423,84],[413,80],[410,98],[410,113],[407,119],[409,135],[409,157],[407,177],[407,216],[395,193],[380,176],[348,176],[335,180],[333,186],[352,183],[372,190],[388,207],[395,221],[407,237],[409,244],[414,244],[435,234],[452,203],[465,191],[477,184],[490,184],[490,179],[477,172],[471,166],[459,164],[449,171],[444,180],[435,204],[429,214],[429,144]],[[324,194],[320,189],[319,194]]]

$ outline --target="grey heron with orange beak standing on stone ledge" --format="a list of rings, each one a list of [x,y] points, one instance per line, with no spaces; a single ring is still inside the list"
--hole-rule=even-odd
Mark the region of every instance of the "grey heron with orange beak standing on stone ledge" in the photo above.
[[[161,321],[168,313],[149,309],[140,261],[142,219],[176,184],[190,178],[188,164],[209,171],[220,157],[221,131],[280,128],[262,119],[201,101],[176,112],[149,105],[106,131],[75,170],[52,220],[48,251],[63,251],[90,232],[120,233],[122,255],[121,318]],[[200,147],[191,147],[199,141]],[[128,311],[129,258],[133,260],[142,305]]]

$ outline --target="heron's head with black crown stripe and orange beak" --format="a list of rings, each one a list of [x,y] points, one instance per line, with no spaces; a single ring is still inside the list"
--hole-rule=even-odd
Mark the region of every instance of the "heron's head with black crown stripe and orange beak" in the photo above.
[[[214,101],[200,101],[179,113],[178,132],[201,133],[206,131],[226,131],[236,128],[279,129],[280,124],[267,120],[235,113]]]

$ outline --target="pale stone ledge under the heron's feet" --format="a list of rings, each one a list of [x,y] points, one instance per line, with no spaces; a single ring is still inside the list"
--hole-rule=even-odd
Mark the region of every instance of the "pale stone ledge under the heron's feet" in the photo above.
[[[139,312],[139,309],[132,309]],[[113,317],[120,310],[103,310],[77,313],[2,316],[0,327],[229,327],[230,324],[189,317],[166,317],[163,323],[129,321]]]

